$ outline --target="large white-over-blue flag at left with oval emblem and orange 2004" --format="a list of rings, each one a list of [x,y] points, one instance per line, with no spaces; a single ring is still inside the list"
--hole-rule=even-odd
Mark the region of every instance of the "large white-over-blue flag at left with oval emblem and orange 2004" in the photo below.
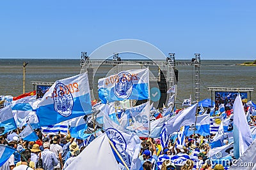
[[[92,113],[87,73],[57,80],[38,104],[39,125],[54,125]]]

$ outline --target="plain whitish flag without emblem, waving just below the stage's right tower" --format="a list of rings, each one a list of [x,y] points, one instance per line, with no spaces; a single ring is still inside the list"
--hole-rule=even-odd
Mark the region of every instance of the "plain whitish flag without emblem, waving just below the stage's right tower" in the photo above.
[[[190,106],[175,115],[175,117],[170,118],[167,121],[166,129],[168,134],[172,134],[177,131],[182,125],[192,125],[196,122],[196,105]]]

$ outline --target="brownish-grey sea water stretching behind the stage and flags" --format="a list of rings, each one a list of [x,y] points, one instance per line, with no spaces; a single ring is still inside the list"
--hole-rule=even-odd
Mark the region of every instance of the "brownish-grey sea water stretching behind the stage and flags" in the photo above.
[[[26,66],[26,92],[34,90],[31,81],[54,82],[74,76],[81,71],[79,59],[0,59],[0,95],[19,96],[23,89],[23,62]],[[190,62],[190,60],[176,60]],[[256,90],[256,66],[239,66],[248,60],[201,60],[200,100],[210,98],[207,87],[243,87]],[[177,66],[179,81],[177,84],[177,102],[195,99],[195,66]],[[105,74],[109,66],[101,67],[97,78]],[[132,66],[131,68],[132,69]],[[97,81],[93,82],[93,96],[97,98]],[[214,95],[214,94],[213,94]],[[213,96],[214,97],[214,96]],[[248,93],[248,98],[250,94]],[[256,92],[251,92],[256,102]]]

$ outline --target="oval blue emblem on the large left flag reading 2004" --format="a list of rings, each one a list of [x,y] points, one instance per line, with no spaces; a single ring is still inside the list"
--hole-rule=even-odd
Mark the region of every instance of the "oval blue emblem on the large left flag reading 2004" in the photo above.
[[[74,99],[70,90],[63,83],[55,85],[52,98],[54,110],[60,113],[61,116],[69,117],[72,114]]]

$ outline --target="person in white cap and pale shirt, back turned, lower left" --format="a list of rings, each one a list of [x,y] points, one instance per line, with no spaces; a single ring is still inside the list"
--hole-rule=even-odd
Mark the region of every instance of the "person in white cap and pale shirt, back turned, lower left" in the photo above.
[[[53,170],[58,165],[58,159],[54,152],[50,151],[50,143],[43,143],[44,151],[41,152],[39,159],[42,159],[44,170]]]

